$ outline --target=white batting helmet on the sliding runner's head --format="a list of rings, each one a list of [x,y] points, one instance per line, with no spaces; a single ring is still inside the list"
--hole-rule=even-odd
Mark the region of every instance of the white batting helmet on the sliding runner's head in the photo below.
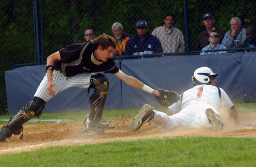
[[[213,73],[213,71],[208,67],[200,67],[195,70],[195,72],[192,75],[192,83],[193,86],[201,85],[201,84],[207,84],[209,85],[211,83],[211,77],[214,78],[219,75],[218,73]]]

